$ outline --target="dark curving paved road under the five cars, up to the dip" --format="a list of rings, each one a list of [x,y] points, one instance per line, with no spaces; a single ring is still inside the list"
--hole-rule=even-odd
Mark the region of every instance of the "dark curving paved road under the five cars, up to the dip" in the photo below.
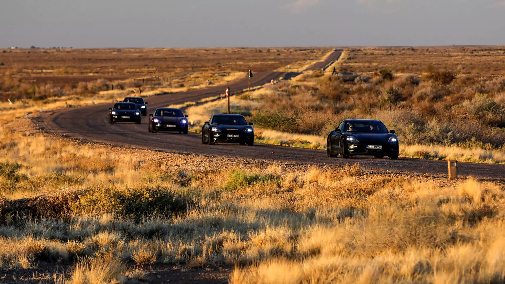
[[[331,60],[330,60],[331,61]],[[328,62],[330,62],[328,61]],[[256,73],[251,79],[252,86],[260,86],[278,79],[284,73]],[[230,85],[232,93],[247,88],[247,78]],[[170,104],[180,104],[187,101],[198,101],[206,97],[224,93],[225,87],[212,87],[203,90],[193,90],[185,93],[167,94],[146,98],[149,102],[147,113],[153,113],[157,107]],[[233,97],[231,97],[233,100]],[[386,159],[357,158],[338,159],[327,158],[321,150],[280,147],[265,144],[255,146],[239,146],[217,144],[206,146],[201,144],[201,135],[189,133],[149,133],[147,131],[148,116],[142,117],[142,124],[109,123],[109,104],[92,105],[81,108],[63,109],[51,114],[47,119],[47,130],[67,134],[71,137],[102,141],[115,145],[138,146],[145,149],[167,151],[174,153],[195,153],[212,156],[232,156],[252,159],[267,159],[284,163],[301,162],[314,165],[340,165],[360,163],[362,167],[397,173],[429,174],[430,176],[446,176],[447,161],[399,158],[396,161]],[[191,119],[189,117],[189,119]],[[458,163],[458,175],[475,176],[491,180],[505,180],[505,165],[490,165],[476,163]]]

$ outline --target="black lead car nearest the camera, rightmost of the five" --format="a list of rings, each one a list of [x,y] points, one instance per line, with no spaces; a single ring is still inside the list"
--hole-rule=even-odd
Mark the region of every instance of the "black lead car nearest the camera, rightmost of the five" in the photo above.
[[[398,159],[398,136],[394,130],[388,131],[379,120],[347,119],[328,134],[328,157],[349,158],[352,156],[374,156],[382,159],[388,156]]]

